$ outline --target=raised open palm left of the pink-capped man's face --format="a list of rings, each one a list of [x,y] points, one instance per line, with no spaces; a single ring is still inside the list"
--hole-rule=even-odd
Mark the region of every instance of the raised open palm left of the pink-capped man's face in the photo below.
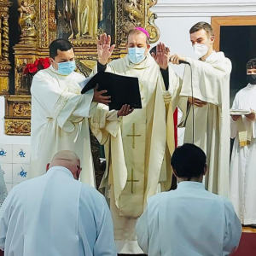
[[[98,52],[98,59],[102,65],[106,65],[108,62],[109,57],[113,53],[114,44],[110,46],[111,37],[106,33],[100,35],[100,38],[97,39],[97,52]]]

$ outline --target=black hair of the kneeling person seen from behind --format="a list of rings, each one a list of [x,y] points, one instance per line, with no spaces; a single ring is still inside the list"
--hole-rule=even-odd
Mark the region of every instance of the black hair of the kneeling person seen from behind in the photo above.
[[[205,172],[207,156],[194,144],[185,143],[172,154],[171,165],[177,177],[200,177]]]

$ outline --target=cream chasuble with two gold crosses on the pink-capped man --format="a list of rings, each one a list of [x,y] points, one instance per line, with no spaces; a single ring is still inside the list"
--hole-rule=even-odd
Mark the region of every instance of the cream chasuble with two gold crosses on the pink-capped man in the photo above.
[[[110,198],[118,253],[142,253],[135,232],[137,218],[143,214],[148,198],[170,189],[172,182],[172,97],[150,55],[138,65],[128,56],[112,61],[106,72],[139,79],[143,108],[125,116],[116,137],[108,137],[108,167],[102,187]],[[96,135],[99,141],[103,132]]]

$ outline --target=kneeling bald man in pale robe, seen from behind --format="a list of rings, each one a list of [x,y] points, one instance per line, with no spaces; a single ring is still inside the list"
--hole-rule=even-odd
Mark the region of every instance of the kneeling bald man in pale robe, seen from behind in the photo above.
[[[5,256],[116,255],[108,204],[78,181],[81,171],[78,155],[61,151],[46,174],[10,191],[0,210]]]

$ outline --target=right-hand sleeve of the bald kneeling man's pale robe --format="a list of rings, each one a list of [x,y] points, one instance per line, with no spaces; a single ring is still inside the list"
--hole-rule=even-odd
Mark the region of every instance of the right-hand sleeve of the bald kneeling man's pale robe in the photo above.
[[[102,196],[101,219],[96,226],[97,239],[94,246],[95,256],[117,255],[113,238],[113,220],[105,198]]]

